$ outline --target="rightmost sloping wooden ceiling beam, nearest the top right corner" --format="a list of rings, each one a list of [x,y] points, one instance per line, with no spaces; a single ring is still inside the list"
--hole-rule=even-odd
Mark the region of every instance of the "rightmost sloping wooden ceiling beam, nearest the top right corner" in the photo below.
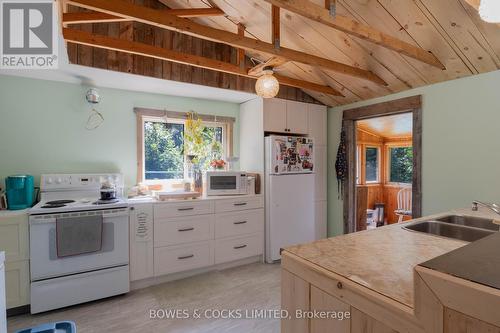
[[[428,65],[445,70],[446,67],[432,53],[402,41],[398,38],[387,35],[368,25],[359,23],[346,16],[330,16],[330,11],[323,6],[316,5],[308,0],[265,0],[273,6],[279,6],[295,14],[307,17],[316,22],[322,23],[336,30],[356,36],[363,40],[375,43],[390,50],[404,54],[410,58],[419,60]],[[472,0],[471,0],[472,1]]]

